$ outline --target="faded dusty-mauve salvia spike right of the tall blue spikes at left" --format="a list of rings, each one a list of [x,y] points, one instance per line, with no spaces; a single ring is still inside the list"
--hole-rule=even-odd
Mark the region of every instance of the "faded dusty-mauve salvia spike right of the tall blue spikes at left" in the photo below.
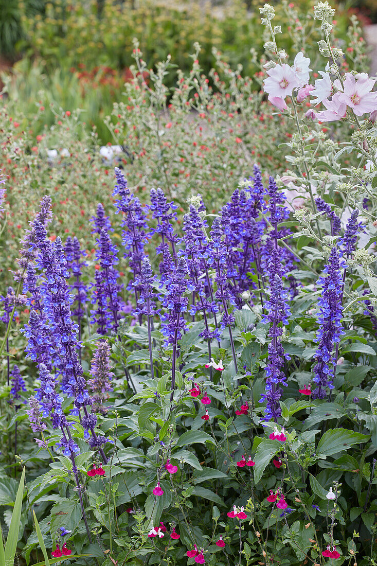
[[[96,342],[96,350],[92,359],[92,367],[88,386],[92,392],[92,412],[105,415],[108,409],[104,406],[104,402],[109,398],[109,391],[113,391],[111,387],[112,378],[114,376],[110,366],[110,345],[107,340]]]

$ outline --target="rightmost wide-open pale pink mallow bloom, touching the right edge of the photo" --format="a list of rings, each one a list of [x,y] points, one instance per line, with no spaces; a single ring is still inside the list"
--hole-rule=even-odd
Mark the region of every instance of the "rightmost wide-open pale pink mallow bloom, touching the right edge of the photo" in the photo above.
[[[377,110],[377,92],[371,92],[376,79],[370,79],[366,72],[344,75],[344,91],[339,93],[339,100],[353,109],[357,116]]]

